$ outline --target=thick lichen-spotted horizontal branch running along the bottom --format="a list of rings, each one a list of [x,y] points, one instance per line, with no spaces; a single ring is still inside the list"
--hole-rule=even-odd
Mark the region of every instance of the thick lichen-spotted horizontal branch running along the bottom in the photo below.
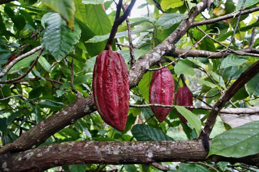
[[[80,155],[80,156],[78,156]],[[146,164],[153,162],[228,161],[259,165],[259,154],[242,158],[211,155],[202,140],[159,142],[74,141],[56,143],[0,157],[2,171],[44,171],[69,164]]]

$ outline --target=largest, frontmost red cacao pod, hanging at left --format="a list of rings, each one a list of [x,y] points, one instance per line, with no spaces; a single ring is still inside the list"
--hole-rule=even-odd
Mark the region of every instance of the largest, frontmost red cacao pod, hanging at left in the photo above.
[[[93,68],[93,98],[106,124],[123,131],[129,111],[128,69],[123,56],[112,50],[100,52]]]

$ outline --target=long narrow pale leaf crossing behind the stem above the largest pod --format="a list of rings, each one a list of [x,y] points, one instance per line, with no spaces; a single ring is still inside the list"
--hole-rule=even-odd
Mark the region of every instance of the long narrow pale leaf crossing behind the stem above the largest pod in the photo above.
[[[148,31],[147,30],[133,30],[133,31],[131,31],[131,34],[137,34],[140,32],[148,32]],[[96,35],[86,42],[87,43],[101,42],[101,41],[108,39],[109,36],[110,36],[110,33],[106,34],[106,35]],[[128,31],[117,32],[114,38],[120,38],[120,37],[124,37],[124,36],[128,36]]]

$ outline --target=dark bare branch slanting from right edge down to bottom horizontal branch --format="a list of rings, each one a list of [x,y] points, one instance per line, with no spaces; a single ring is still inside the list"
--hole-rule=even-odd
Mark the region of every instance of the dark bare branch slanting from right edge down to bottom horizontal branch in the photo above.
[[[227,89],[227,91],[219,98],[210,111],[204,131],[210,135],[212,128],[215,124],[215,120],[222,107],[242,88],[250,79],[259,73],[259,61],[251,65],[247,70],[241,73],[240,77]],[[203,132],[201,132],[199,138],[202,138]]]

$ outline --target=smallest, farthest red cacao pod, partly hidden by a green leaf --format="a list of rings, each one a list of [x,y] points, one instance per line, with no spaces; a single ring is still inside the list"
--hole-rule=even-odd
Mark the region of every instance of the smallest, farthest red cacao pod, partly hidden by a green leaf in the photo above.
[[[175,104],[179,106],[192,106],[192,93],[187,86],[179,87],[175,96]],[[188,110],[192,111],[192,109]],[[181,115],[181,113],[177,112],[177,114],[181,121],[185,124],[187,120]]]

